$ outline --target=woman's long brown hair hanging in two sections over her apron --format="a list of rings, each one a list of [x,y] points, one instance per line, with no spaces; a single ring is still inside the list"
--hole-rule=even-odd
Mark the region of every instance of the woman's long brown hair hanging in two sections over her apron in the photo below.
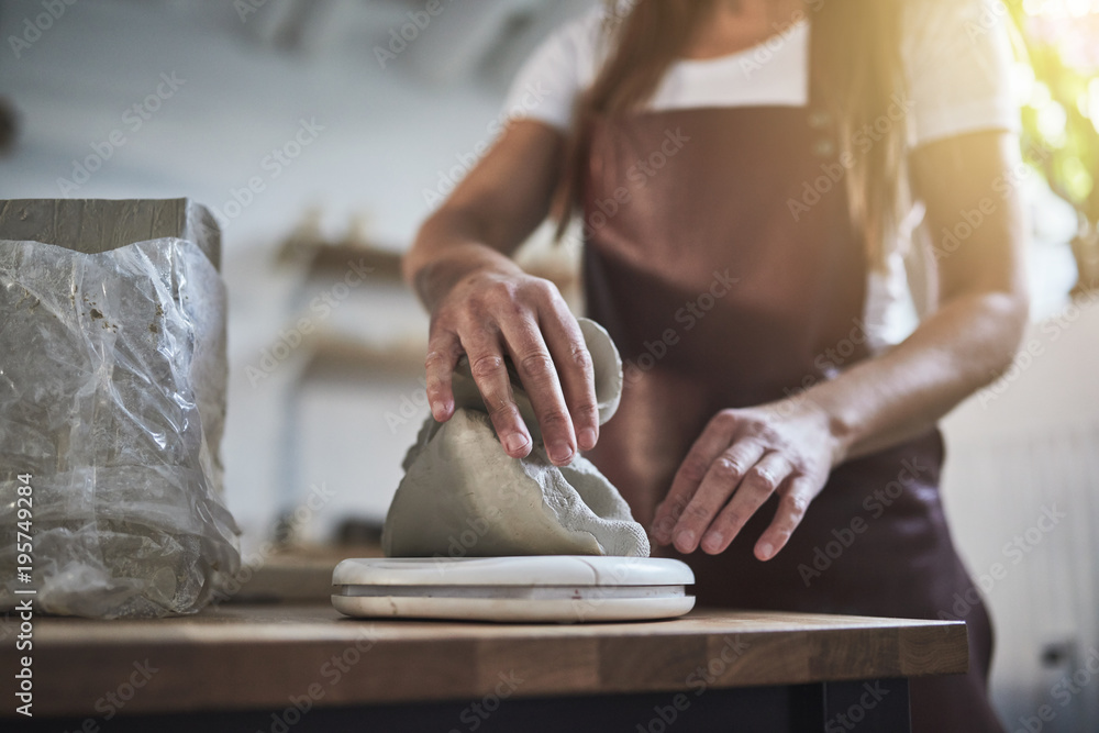
[[[897,223],[904,156],[903,121],[888,115],[890,104],[906,95],[899,51],[901,1],[804,3],[812,24],[810,74],[821,101],[837,122],[840,152],[850,152],[854,162],[845,180],[851,220],[865,240],[867,259],[874,267],[882,266],[882,244]],[[715,0],[636,0],[624,18],[620,16],[619,0],[604,3],[610,53],[591,88],[577,102],[556,201],[558,237],[564,235],[574,209],[582,206],[595,121],[643,107]],[[866,125],[874,129],[876,123],[873,137],[858,136]],[[867,141],[873,144],[867,145]]]

